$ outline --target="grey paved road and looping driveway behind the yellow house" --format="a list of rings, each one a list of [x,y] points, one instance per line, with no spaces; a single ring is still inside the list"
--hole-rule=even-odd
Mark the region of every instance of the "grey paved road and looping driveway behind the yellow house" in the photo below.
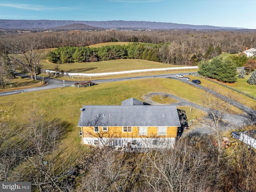
[[[193,72],[191,72],[193,73]],[[196,72],[194,72],[196,73]],[[187,73],[183,73],[184,75]],[[22,76],[24,78],[29,76],[27,75],[23,75],[23,74],[18,74],[18,76]],[[172,78],[172,79],[176,79],[176,80],[180,80],[182,82],[186,82],[188,84],[191,84],[193,86],[196,86],[200,89],[203,89],[205,91],[209,91],[210,93],[218,96],[219,98],[222,98],[225,101],[229,101],[232,105],[240,108],[242,111],[245,112],[244,115],[234,115],[234,114],[226,114],[223,118],[224,121],[228,122],[226,124],[226,126],[223,126],[225,129],[230,128],[230,129],[234,129],[234,127],[237,126],[242,126],[244,124],[251,124],[253,122],[256,121],[256,111],[252,110],[251,108],[248,108],[247,106],[244,106],[243,104],[240,104],[234,100],[231,100],[230,98],[221,95],[217,92],[214,92],[212,90],[209,90],[208,88],[205,88],[203,86],[194,84],[190,81],[184,81],[182,78],[176,78],[176,74],[161,74],[161,75],[150,75],[150,76],[136,76],[136,77],[125,77],[125,78],[113,78],[113,79],[105,79],[105,80],[93,80],[92,82],[99,84],[99,83],[105,83],[105,82],[117,82],[117,81],[125,81],[125,80],[136,80],[136,79],[145,79],[145,78]],[[38,77],[38,79],[40,80],[41,77]],[[24,93],[24,92],[32,92],[32,91],[37,91],[37,90],[46,90],[46,89],[52,89],[52,88],[64,88],[64,84],[65,87],[66,86],[70,86],[71,84],[74,83],[74,81],[68,81],[65,80],[63,83],[63,80],[57,80],[57,79],[52,79],[52,78],[44,78],[44,81],[47,82],[47,85],[45,86],[41,86],[41,87],[36,87],[36,88],[28,88],[28,89],[23,89],[23,90],[15,90],[15,91],[8,91],[8,92],[1,92],[0,96],[6,96],[6,95],[11,95],[11,94],[19,94],[19,93]],[[145,96],[145,101],[148,102],[149,104],[155,105],[156,103],[154,103],[150,98],[152,95],[154,94],[165,94],[165,93],[152,93],[152,94],[147,94]],[[205,111],[207,113],[209,113],[209,109],[205,108],[203,106],[200,106],[198,104],[194,104],[192,102],[189,102],[188,100],[179,98],[177,96],[174,95],[170,95],[170,94],[165,94],[168,97],[174,98],[176,100],[178,100],[179,102],[174,103],[174,105],[176,106],[191,106],[193,108],[198,108],[202,111]],[[159,105],[159,104],[157,104]],[[210,118],[210,116],[206,116],[204,118]],[[200,134],[211,134],[212,129],[210,128],[210,126],[206,125],[206,124],[198,124],[196,126],[193,126],[193,130],[187,130],[185,133],[186,134],[191,134],[191,132],[200,132]],[[185,135],[186,135],[185,134]]]

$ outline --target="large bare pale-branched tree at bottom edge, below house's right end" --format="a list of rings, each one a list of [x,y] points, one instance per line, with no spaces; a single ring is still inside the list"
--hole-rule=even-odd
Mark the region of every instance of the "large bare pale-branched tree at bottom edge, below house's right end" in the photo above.
[[[211,191],[214,162],[204,149],[193,148],[180,141],[175,148],[146,150],[142,165],[142,180],[152,191]],[[213,187],[213,186],[212,186]]]

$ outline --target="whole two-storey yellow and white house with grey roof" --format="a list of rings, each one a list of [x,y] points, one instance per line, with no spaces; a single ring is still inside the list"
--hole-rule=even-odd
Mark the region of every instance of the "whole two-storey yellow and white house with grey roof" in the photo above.
[[[80,110],[82,142],[94,146],[172,147],[181,126],[176,106],[144,105],[134,98],[120,106],[84,105]]]

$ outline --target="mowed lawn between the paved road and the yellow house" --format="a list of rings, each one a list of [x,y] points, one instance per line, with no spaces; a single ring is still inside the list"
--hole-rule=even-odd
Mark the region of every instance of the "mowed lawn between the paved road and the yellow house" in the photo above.
[[[22,125],[28,122],[31,112],[36,112],[38,116],[42,114],[45,120],[67,121],[72,132],[68,134],[65,142],[71,145],[74,141],[80,141],[77,124],[82,105],[121,105],[122,100],[131,97],[143,101],[143,96],[150,92],[174,94],[200,105],[204,103],[205,92],[194,86],[167,78],[151,78],[102,83],[86,88],[66,87],[2,96],[0,120],[11,120]],[[231,110],[242,113],[237,108]],[[192,110],[188,120],[199,118],[201,114]]]

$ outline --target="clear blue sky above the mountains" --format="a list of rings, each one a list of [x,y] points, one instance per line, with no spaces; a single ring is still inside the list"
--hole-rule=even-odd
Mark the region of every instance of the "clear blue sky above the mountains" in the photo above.
[[[0,0],[0,19],[151,21],[256,29],[256,0]]]

